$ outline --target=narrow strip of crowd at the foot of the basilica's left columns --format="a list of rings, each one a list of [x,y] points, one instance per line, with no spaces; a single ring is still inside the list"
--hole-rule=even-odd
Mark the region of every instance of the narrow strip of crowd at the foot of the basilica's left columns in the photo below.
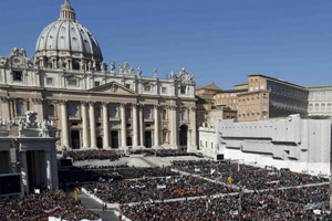
[[[113,150],[79,150],[79,151],[68,151],[66,152],[74,161],[79,160],[92,160],[92,159],[110,159],[110,160],[117,160],[121,156]]]

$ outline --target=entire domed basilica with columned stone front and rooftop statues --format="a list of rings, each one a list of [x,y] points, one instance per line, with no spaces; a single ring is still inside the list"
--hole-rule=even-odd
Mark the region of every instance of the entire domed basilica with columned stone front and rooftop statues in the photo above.
[[[0,60],[0,118],[52,120],[58,149],[186,148],[195,151],[195,77],[143,76],[127,62],[103,62],[93,34],[68,0],[41,32],[35,55],[12,49]]]

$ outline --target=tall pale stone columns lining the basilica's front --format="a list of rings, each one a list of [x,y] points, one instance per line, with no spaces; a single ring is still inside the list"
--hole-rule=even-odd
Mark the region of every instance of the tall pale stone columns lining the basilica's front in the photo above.
[[[68,107],[66,102],[61,102],[61,120],[62,120],[62,145],[70,147],[69,137],[69,123],[68,123]],[[87,118],[87,105],[89,105],[89,118]],[[110,146],[110,117],[108,117],[108,104],[103,103],[103,148],[108,149]],[[144,107],[132,105],[133,110],[133,146],[145,146],[144,145]],[[83,148],[97,148],[96,140],[96,122],[95,122],[95,106],[94,102],[82,102],[81,103],[81,116],[82,116],[82,136],[83,136]],[[154,106],[154,147],[160,146],[160,112],[159,105]],[[195,109],[190,114],[191,124],[191,138],[190,146],[196,144],[196,113]],[[126,119],[126,105],[120,104],[120,118],[121,118],[121,147],[127,146],[127,119]],[[170,119],[170,147],[177,148],[178,146],[178,113],[177,106],[169,106],[169,119]],[[90,130],[89,125],[90,124]],[[89,145],[89,137],[90,144]],[[189,145],[188,144],[188,145]]]

